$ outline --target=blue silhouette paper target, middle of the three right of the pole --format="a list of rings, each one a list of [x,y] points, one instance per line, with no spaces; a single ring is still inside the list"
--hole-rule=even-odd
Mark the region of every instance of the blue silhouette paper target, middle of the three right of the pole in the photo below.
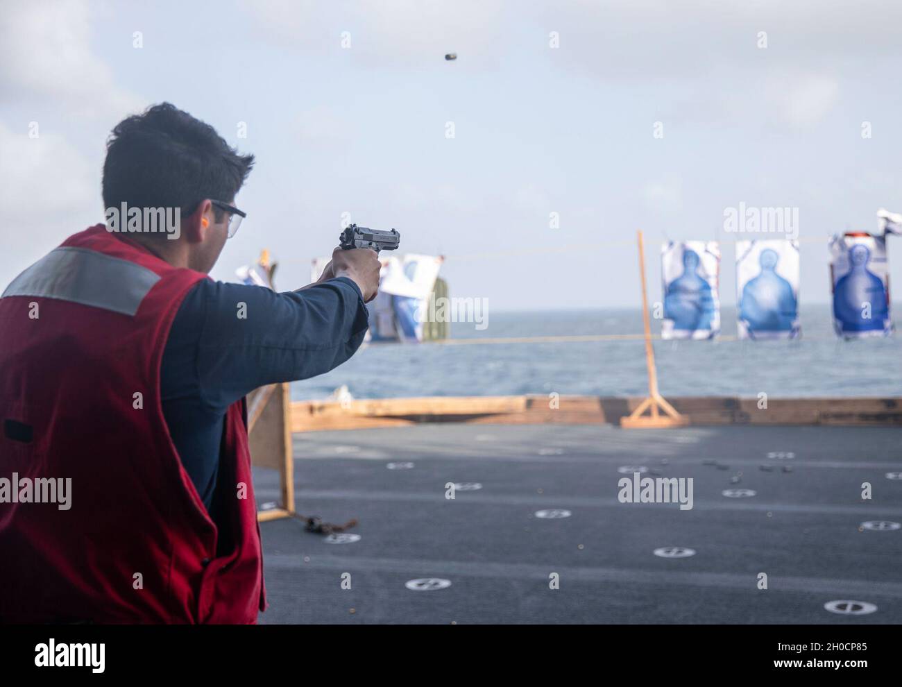
[[[797,241],[736,242],[736,309],[741,339],[794,339],[798,321]]]

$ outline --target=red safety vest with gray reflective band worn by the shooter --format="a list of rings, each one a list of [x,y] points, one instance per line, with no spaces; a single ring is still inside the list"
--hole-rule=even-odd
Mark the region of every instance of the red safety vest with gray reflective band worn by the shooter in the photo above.
[[[0,621],[253,623],[266,608],[244,399],[220,456],[227,533],[162,413],[163,348],[204,278],[97,224],[0,297]]]

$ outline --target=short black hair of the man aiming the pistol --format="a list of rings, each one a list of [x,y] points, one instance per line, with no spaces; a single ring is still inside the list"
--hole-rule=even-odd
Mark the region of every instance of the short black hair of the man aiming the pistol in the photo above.
[[[230,202],[253,167],[209,124],[170,103],[115,125],[106,141],[105,207],[179,207],[193,213],[205,198]],[[223,211],[214,206],[216,221]]]

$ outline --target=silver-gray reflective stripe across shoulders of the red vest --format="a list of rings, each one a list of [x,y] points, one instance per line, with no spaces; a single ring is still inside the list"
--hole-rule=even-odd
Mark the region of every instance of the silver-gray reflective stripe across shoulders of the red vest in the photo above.
[[[56,298],[134,316],[160,275],[87,248],[57,248],[13,280],[0,298]]]

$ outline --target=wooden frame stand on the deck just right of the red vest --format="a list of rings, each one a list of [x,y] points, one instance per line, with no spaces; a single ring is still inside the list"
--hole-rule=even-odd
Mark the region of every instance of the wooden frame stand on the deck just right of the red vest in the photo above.
[[[258,510],[257,521],[294,515],[294,463],[291,452],[291,403],[287,383],[256,389],[247,397],[251,463],[279,472],[279,508]]]

